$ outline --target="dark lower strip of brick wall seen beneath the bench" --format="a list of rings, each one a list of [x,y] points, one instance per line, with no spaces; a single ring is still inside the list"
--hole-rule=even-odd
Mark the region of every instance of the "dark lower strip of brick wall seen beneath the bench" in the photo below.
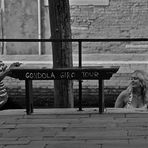
[[[90,80],[91,81],[91,80]],[[20,82],[21,83],[21,82]],[[44,87],[41,85],[41,82],[38,82],[38,87],[33,88],[33,94],[34,94],[34,106],[36,108],[52,108],[54,103],[54,90],[53,86],[49,88],[48,84],[51,83],[46,81],[46,85]],[[85,82],[87,83],[87,82]],[[94,82],[91,82],[94,83]],[[96,81],[96,83],[98,83]],[[22,86],[15,85],[14,87],[7,86],[8,94],[10,100],[19,106],[19,108],[25,107],[25,89],[24,84]],[[17,87],[15,87],[17,86]],[[116,100],[119,93],[124,89],[125,87],[115,87],[115,86],[105,86],[105,105],[108,107],[114,106],[114,101]],[[90,85],[83,84],[82,89],[82,104],[85,107],[97,107],[98,106],[98,85]],[[75,100],[75,107],[78,106],[78,99],[79,99],[79,90],[78,85],[74,86],[74,100]]]

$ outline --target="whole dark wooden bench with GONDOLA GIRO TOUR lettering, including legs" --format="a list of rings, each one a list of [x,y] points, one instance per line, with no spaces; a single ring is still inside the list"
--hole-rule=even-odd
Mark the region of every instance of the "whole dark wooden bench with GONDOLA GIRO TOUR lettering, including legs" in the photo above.
[[[12,69],[12,77],[25,80],[26,113],[33,113],[33,80],[98,80],[99,81],[99,113],[104,111],[104,80],[110,79],[118,71],[118,66],[73,67],[73,68],[37,68],[21,66]],[[80,88],[81,89],[81,88]],[[80,96],[79,96],[80,97]],[[81,110],[81,104],[79,104]]]

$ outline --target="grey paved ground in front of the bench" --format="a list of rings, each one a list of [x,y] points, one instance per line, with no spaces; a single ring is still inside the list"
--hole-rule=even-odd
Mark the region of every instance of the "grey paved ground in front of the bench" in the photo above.
[[[121,112],[121,113],[120,113]],[[35,109],[0,112],[0,148],[145,148],[148,114],[108,109]]]

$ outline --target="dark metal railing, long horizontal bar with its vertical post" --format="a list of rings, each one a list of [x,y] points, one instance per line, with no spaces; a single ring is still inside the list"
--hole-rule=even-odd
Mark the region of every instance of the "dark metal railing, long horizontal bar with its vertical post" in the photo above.
[[[148,38],[102,38],[102,39],[0,39],[0,42],[77,42],[79,68],[82,67],[83,42],[146,42]],[[82,81],[79,80],[79,111],[82,111]]]

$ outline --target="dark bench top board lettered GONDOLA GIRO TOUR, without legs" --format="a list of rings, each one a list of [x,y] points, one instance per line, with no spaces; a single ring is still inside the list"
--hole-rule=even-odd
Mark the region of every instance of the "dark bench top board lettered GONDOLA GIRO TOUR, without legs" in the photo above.
[[[103,68],[56,68],[56,69],[28,69],[17,68],[13,70],[13,76],[20,80],[87,80],[87,79],[108,79],[116,72],[117,67]]]

